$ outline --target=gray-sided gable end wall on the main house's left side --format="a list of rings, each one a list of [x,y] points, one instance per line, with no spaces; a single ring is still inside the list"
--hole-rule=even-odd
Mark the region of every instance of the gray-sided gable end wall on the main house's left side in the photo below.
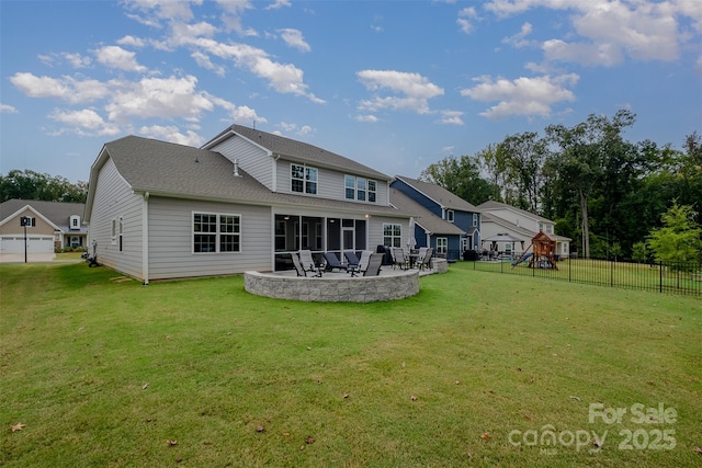
[[[107,159],[100,170],[92,205],[92,216],[88,228],[88,251],[92,251],[93,239],[98,241],[98,261],[101,264],[143,278],[141,274],[141,195],[132,189]],[[123,243],[120,252],[118,238],[112,241],[112,220],[122,216]]]

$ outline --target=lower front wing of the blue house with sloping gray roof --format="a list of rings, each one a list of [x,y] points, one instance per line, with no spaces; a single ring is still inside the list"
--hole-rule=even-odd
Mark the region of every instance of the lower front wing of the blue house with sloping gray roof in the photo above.
[[[429,209],[421,206],[415,199],[407,196],[397,189],[390,189],[390,204],[403,213],[411,214],[415,220],[415,232],[407,238],[410,247],[432,247],[437,255],[454,261],[460,258],[461,239],[465,237],[465,231],[452,222],[441,219]]]

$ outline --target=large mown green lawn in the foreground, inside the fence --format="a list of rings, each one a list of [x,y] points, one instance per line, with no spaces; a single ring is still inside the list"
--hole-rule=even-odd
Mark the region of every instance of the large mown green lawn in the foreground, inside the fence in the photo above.
[[[700,298],[458,262],[304,304],[53,263],[0,264],[0,306],[4,467],[702,464]]]

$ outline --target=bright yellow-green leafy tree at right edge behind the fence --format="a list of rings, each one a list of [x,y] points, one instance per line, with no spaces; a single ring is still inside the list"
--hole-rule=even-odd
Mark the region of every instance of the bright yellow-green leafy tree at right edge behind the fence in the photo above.
[[[702,260],[702,228],[697,224],[697,213],[690,205],[672,206],[663,214],[663,227],[654,228],[648,236],[648,248],[658,262],[672,262],[673,269],[683,269],[675,263]]]

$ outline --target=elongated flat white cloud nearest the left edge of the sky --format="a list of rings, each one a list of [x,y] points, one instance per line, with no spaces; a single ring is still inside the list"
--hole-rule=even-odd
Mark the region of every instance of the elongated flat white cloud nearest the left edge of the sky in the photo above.
[[[112,92],[114,82],[77,80],[71,77],[37,77],[33,73],[14,73],[10,82],[30,98],[56,98],[71,104],[86,103],[105,98]]]

